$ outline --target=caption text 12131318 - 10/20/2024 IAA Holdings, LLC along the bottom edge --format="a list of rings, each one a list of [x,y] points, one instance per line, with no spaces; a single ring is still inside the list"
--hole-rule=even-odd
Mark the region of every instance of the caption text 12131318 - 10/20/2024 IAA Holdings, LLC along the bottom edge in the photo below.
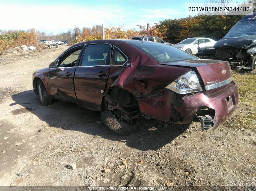
[[[165,186],[89,186],[88,190],[165,190]]]

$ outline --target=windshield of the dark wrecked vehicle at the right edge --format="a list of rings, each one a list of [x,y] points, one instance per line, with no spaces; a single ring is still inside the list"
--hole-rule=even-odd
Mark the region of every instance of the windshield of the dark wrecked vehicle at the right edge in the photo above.
[[[256,21],[238,22],[224,38],[256,39]]]

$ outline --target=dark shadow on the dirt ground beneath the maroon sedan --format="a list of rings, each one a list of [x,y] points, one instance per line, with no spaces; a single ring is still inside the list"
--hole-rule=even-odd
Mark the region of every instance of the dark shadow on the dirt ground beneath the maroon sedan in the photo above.
[[[138,132],[128,136],[118,135],[102,123],[100,112],[91,111],[75,103],[55,101],[52,105],[41,106],[38,96],[33,90],[23,91],[12,95],[13,105],[19,104],[22,109],[13,110],[13,115],[31,112],[49,126],[66,130],[80,131],[102,138],[126,142],[131,148],[142,151],[158,150],[176,137],[180,136],[189,127],[162,122],[156,119],[138,118]],[[38,129],[40,132],[40,129]]]

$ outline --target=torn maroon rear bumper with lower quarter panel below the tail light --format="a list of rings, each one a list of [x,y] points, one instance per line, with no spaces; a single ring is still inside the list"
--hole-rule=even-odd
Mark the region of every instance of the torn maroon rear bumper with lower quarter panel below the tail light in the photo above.
[[[225,123],[238,105],[238,86],[232,81],[220,91],[189,96],[165,89],[155,95],[135,94],[142,113],[155,119],[177,124],[200,121],[211,116],[213,128]],[[198,114],[200,110],[200,115]]]

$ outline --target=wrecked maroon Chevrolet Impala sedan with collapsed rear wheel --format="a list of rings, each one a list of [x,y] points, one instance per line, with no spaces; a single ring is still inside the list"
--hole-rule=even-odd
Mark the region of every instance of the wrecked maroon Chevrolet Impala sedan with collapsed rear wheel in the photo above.
[[[136,129],[141,114],[216,129],[238,104],[228,62],[140,40],[76,44],[35,71],[32,83],[42,105],[60,99],[101,111],[102,121],[121,135]]]

